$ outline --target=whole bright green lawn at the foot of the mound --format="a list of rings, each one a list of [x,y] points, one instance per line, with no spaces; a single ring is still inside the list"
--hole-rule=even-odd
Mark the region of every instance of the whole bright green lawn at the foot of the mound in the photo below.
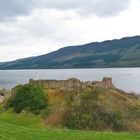
[[[15,114],[12,110],[0,114],[0,140],[139,140],[140,134],[46,129],[39,116]]]

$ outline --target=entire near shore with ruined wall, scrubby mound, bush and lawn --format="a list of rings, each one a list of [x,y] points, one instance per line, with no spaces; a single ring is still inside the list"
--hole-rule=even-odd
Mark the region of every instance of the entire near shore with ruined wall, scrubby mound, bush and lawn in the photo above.
[[[40,109],[44,97],[49,104]],[[111,78],[30,80],[0,103],[0,139],[138,140],[139,116],[139,97],[115,88]]]

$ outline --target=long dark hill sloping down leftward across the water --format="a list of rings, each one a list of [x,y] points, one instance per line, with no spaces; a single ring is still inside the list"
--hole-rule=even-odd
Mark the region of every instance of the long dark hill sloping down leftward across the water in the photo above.
[[[0,69],[140,67],[140,36],[69,46],[52,53],[0,63]]]

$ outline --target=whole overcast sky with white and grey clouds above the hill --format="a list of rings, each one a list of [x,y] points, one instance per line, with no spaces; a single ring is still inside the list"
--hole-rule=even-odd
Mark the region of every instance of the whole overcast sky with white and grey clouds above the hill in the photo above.
[[[140,0],[0,0],[0,62],[140,35]]]

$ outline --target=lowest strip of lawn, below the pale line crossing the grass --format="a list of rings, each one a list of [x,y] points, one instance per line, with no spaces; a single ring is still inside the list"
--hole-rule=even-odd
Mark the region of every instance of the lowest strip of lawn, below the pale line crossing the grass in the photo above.
[[[139,134],[33,129],[0,121],[1,140],[139,140]]]

